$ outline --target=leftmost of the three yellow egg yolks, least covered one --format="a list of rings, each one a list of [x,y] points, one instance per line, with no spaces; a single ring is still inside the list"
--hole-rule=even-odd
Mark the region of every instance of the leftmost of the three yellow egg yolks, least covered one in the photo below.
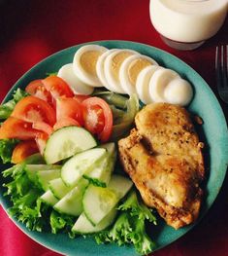
[[[96,63],[100,55],[102,53],[99,51],[87,51],[81,55],[81,67],[89,75],[96,76]]]

